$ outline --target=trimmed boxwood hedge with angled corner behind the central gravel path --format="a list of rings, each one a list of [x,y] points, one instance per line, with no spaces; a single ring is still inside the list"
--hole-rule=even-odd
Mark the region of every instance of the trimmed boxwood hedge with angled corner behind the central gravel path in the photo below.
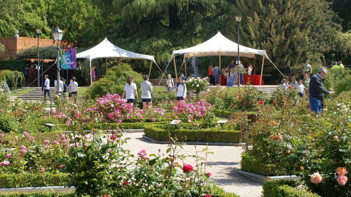
[[[221,130],[220,127],[208,129],[172,129],[164,128],[163,124],[148,124],[144,127],[146,136],[157,141],[168,141],[168,133],[171,137],[177,137],[178,141],[187,142],[240,142],[240,131]],[[186,139],[185,139],[186,137]]]

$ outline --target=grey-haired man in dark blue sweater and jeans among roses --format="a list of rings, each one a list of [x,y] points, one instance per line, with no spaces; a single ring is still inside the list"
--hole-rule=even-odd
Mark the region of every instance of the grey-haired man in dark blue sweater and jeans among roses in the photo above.
[[[317,114],[320,114],[322,109],[322,102],[324,94],[334,95],[334,92],[324,89],[322,84],[322,79],[327,75],[327,70],[325,68],[320,68],[318,73],[313,75],[310,80],[309,87],[309,102],[310,109]]]

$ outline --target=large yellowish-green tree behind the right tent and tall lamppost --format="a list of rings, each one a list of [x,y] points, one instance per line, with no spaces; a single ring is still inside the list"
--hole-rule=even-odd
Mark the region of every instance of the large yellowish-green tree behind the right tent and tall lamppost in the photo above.
[[[335,13],[325,0],[237,0],[233,12],[243,15],[241,43],[265,49],[270,59],[284,71],[288,65],[302,68],[306,59],[319,61],[339,26],[332,21]],[[229,26],[236,40],[237,25],[232,17]],[[266,66],[265,72],[273,72]]]

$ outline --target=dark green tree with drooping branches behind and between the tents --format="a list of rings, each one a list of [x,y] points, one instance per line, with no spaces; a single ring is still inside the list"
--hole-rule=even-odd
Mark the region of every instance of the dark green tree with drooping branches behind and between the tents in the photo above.
[[[108,39],[167,64],[172,50],[190,47],[225,29],[230,0],[95,0],[111,19]],[[141,65],[143,67],[144,65]]]

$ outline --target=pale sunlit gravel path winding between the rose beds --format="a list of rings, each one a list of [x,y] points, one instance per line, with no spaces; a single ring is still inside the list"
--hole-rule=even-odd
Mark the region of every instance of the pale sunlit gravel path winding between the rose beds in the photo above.
[[[127,144],[124,144],[125,149],[131,150],[132,154],[137,155],[137,152],[144,148],[147,154],[157,154],[158,150],[161,150],[161,154],[166,153],[166,144],[156,144],[143,138],[144,133],[128,133]],[[206,146],[197,145],[197,150],[202,150]],[[236,146],[208,146],[209,151],[213,152],[213,155],[207,156],[207,164],[211,167],[207,167],[206,171],[211,172],[211,180],[218,186],[223,188],[225,191],[234,192],[241,197],[258,197],[261,196],[262,184],[252,181],[249,178],[238,174],[240,169],[241,152],[243,149]],[[184,149],[180,151],[180,154],[194,155],[195,146],[185,145]],[[181,161],[180,161],[181,162]],[[187,157],[186,163],[195,165],[195,159]]]

